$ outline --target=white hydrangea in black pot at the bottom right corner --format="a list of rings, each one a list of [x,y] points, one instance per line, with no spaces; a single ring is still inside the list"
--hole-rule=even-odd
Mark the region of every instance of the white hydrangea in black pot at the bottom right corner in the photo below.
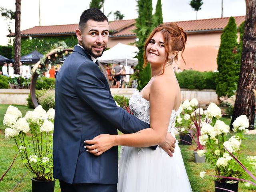
[[[244,133],[248,132],[249,121],[245,115],[241,115],[233,122],[233,131],[236,133],[231,138],[227,138],[229,126],[218,120],[220,118],[220,108],[216,104],[210,104],[206,112],[206,120],[202,125],[200,144],[205,146],[206,160],[214,168],[216,175],[215,180],[216,192],[224,191],[219,188],[238,191],[238,182],[223,177],[240,177],[245,178],[244,170],[236,164],[236,161],[230,156],[230,152],[234,156],[238,156],[242,140],[245,138]],[[224,146],[226,148],[224,148]],[[245,161],[245,163],[247,163]],[[200,174],[204,174],[201,172]],[[222,177],[219,177],[222,176]]]

